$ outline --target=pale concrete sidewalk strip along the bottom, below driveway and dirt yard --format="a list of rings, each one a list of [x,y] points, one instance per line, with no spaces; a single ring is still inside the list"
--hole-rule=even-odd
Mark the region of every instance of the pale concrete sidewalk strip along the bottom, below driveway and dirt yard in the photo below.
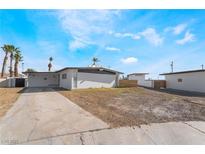
[[[90,130],[24,144],[205,144],[205,122],[170,122]]]

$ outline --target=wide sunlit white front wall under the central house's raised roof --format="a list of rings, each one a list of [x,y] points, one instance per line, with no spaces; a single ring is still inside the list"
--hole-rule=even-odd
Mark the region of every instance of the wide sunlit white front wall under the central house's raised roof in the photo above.
[[[111,88],[116,86],[118,75],[77,73],[77,89],[84,88]]]

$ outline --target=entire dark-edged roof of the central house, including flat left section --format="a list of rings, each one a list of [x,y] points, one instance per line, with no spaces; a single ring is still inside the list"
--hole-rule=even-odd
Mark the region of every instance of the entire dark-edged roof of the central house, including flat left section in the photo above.
[[[59,73],[59,72],[62,72],[64,70],[67,70],[67,69],[78,69],[78,71],[81,71],[81,72],[89,71],[91,73],[92,72],[94,73],[94,71],[106,71],[106,72],[110,72],[110,73],[123,74],[122,72],[118,72],[118,71],[111,70],[111,69],[104,68],[104,67],[65,67],[65,68],[60,69],[60,70],[55,71],[55,72],[23,72],[23,73],[24,74],[28,74],[28,73]]]

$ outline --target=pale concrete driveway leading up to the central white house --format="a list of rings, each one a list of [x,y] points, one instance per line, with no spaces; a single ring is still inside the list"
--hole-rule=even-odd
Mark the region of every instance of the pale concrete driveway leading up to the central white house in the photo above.
[[[0,120],[1,144],[21,144],[108,125],[49,88],[28,88]]]

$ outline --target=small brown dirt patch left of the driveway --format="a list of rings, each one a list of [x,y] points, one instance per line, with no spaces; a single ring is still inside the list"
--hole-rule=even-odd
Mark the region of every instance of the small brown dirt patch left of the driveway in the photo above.
[[[0,117],[13,106],[22,88],[0,88]]]

